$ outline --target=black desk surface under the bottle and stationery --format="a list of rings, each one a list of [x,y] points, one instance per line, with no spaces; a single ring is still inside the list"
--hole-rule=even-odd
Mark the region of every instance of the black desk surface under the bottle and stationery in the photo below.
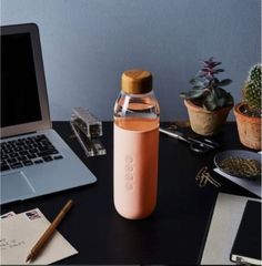
[[[59,232],[79,254],[58,264],[198,264],[218,192],[253,196],[215,173],[212,176],[222,187],[218,190],[208,185],[200,188],[195,175],[204,165],[212,170],[215,152],[199,155],[187,144],[161,134],[155,212],[143,221],[124,219],[113,206],[112,123],[103,123],[102,142],[107,155],[97,157],[85,157],[72,137],[68,122],[54,122],[53,127],[93,172],[98,182],[3,205],[1,212],[19,213],[39,207],[52,221],[72,198],[75,205],[59,226]],[[223,145],[221,150],[244,149],[234,123],[226,124],[215,139]]]

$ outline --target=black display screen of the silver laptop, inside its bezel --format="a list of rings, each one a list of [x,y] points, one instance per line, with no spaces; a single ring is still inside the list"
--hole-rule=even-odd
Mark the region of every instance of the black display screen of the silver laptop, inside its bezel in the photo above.
[[[1,127],[41,119],[30,33],[1,35]]]

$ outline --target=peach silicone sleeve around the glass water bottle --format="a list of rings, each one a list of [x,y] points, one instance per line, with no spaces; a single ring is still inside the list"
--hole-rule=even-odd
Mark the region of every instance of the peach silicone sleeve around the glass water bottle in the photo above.
[[[149,216],[157,203],[159,127],[129,131],[114,124],[114,206],[130,219]]]

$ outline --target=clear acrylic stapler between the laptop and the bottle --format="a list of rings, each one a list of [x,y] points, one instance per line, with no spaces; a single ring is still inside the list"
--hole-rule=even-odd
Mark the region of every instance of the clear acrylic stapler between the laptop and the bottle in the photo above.
[[[107,151],[100,141],[102,122],[83,108],[72,110],[71,127],[87,156],[104,155]]]

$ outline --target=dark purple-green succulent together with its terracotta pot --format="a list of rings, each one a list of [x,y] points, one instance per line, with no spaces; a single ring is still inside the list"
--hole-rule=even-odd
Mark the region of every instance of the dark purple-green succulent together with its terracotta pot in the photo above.
[[[199,74],[190,80],[192,90],[180,93],[180,96],[188,108],[192,130],[201,135],[213,135],[221,131],[233,108],[232,95],[222,89],[232,80],[216,78],[224,70],[218,68],[221,62],[214,58],[202,61],[202,64]]]

